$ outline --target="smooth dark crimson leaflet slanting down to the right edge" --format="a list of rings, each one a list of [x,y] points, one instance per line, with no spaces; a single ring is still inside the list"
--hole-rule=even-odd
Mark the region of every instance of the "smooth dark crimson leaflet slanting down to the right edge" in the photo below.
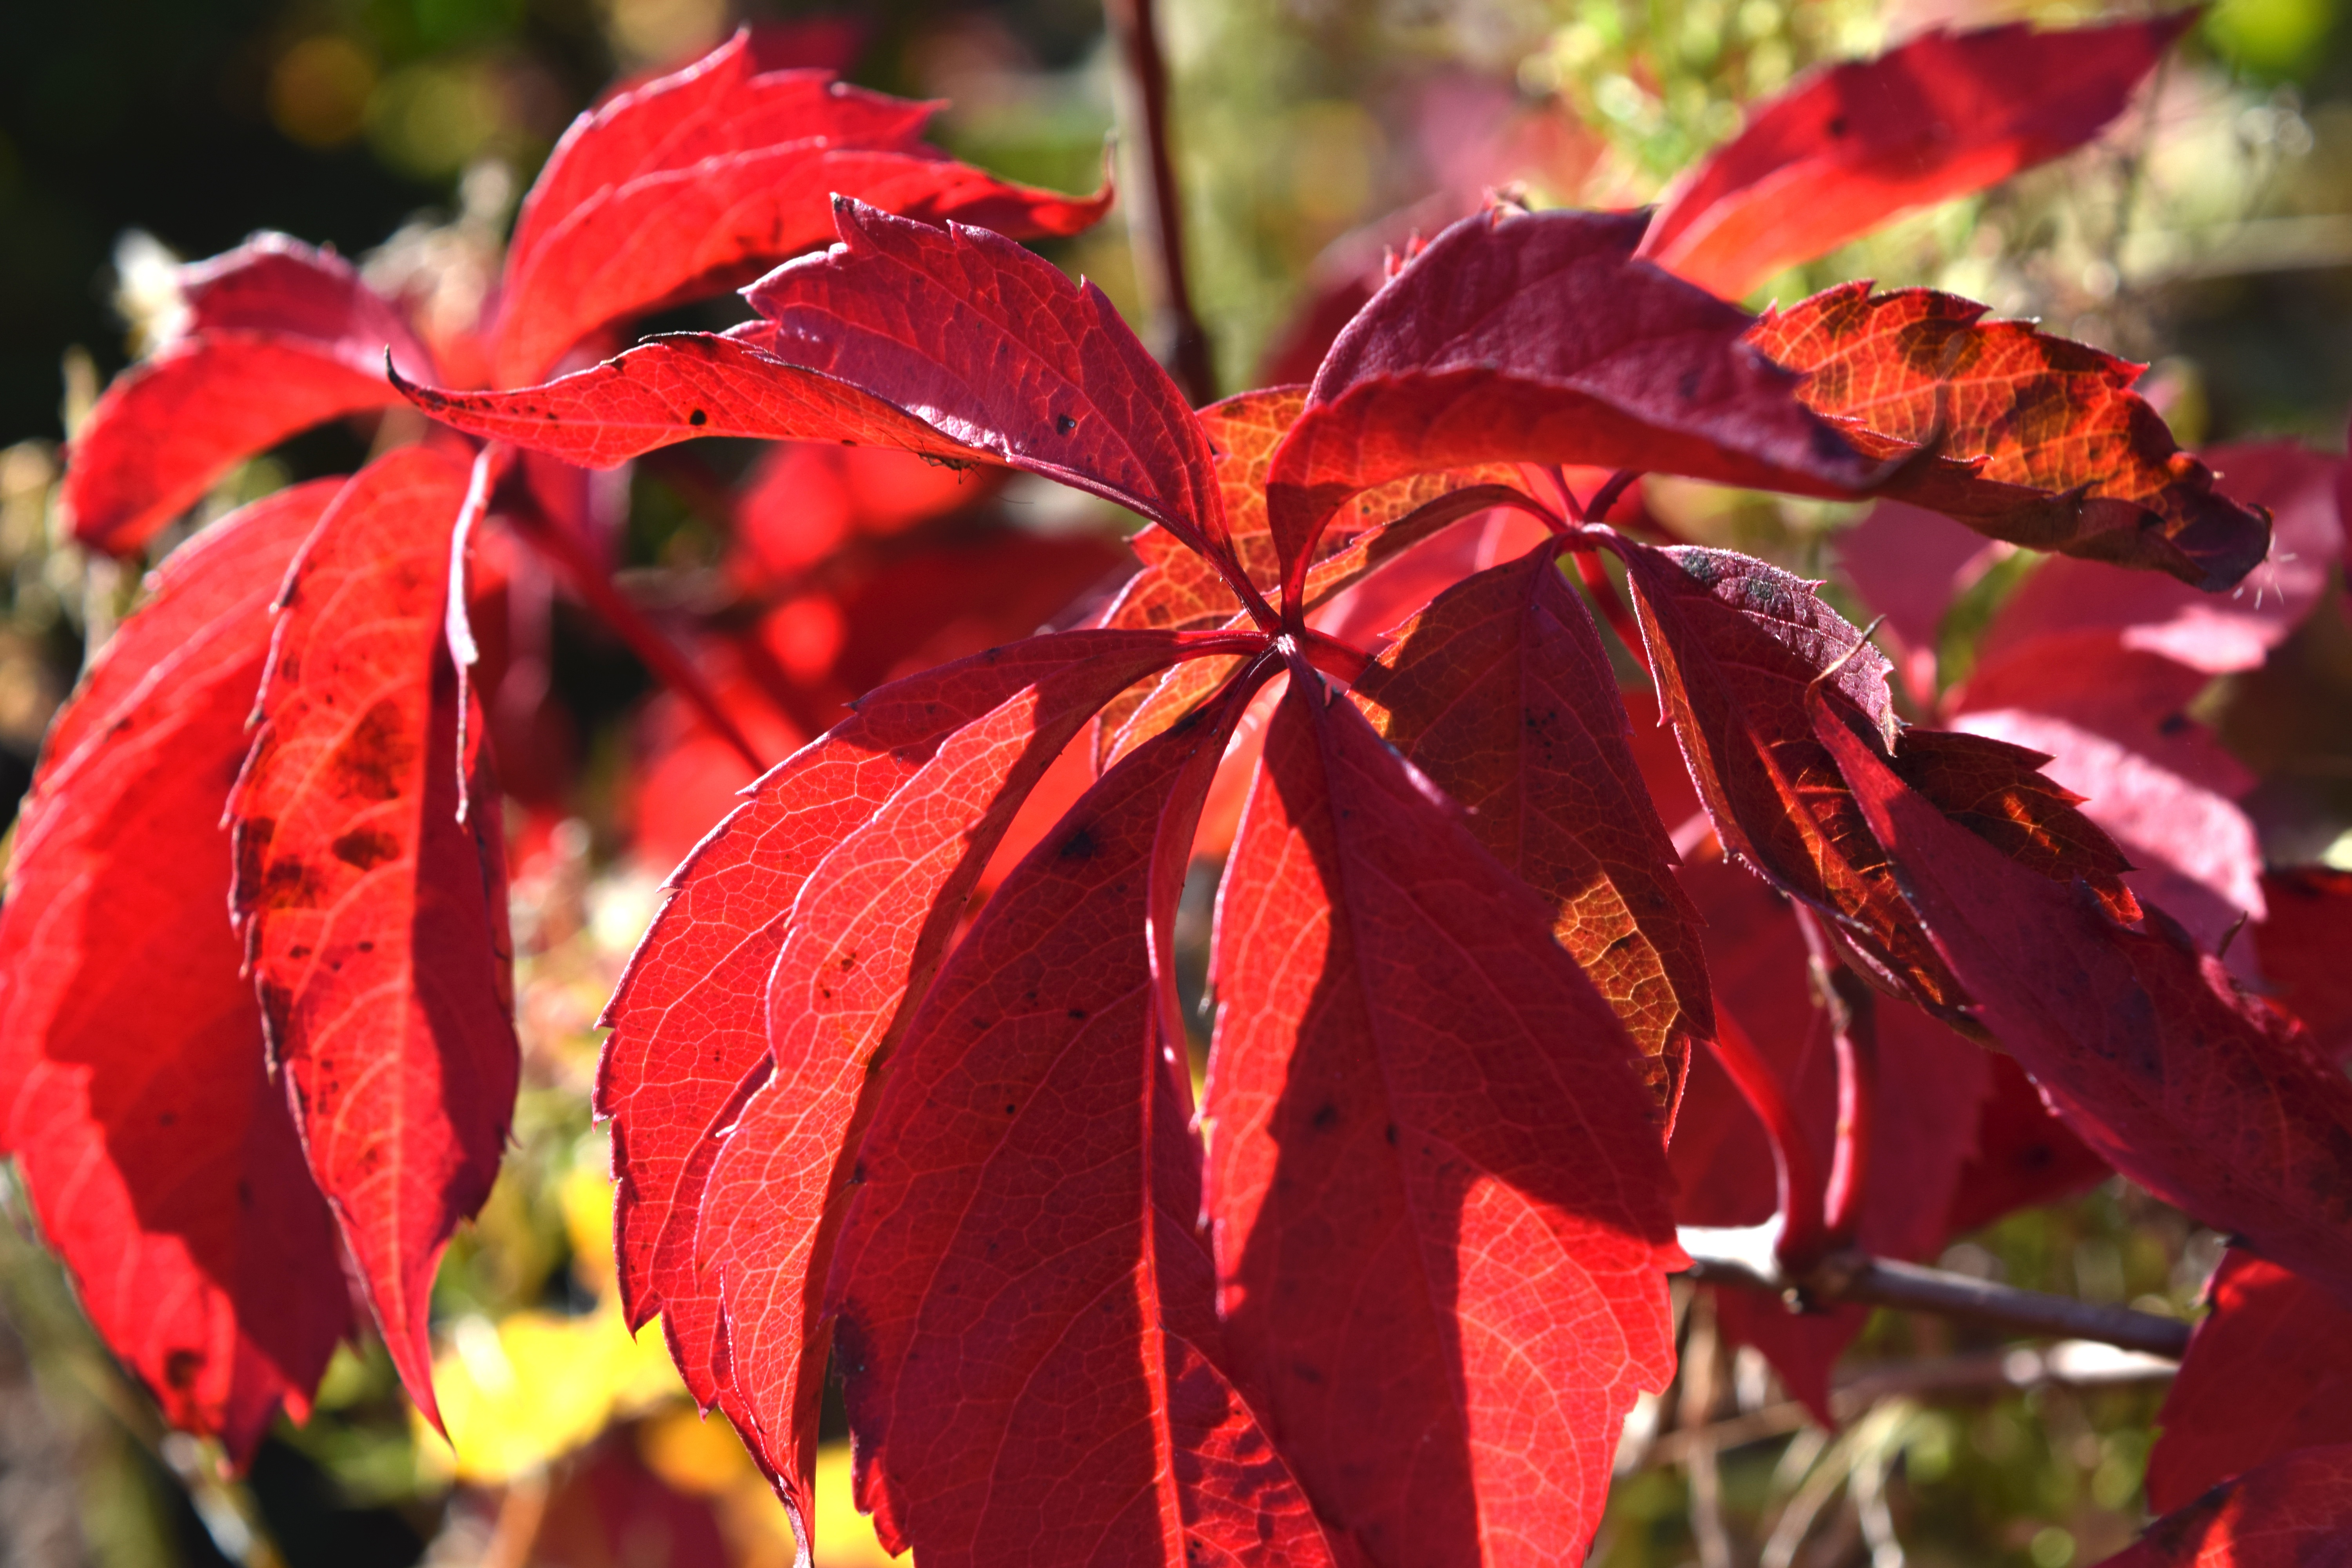
[[[1818,693],[1809,708],[1978,1018],[2067,1126],[2164,1201],[2352,1298],[2352,1084],[2161,914],[2133,931],[2013,865]]]

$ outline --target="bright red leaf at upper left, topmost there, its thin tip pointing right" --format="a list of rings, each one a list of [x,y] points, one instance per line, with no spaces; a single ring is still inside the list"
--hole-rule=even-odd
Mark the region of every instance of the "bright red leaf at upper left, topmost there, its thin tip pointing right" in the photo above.
[[[576,341],[670,301],[750,282],[833,240],[830,195],[1014,237],[1075,235],[1110,190],[1009,186],[922,146],[936,103],[757,71],[746,33],[694,66],[581,115],[522,205],[496,367],[532,381]]]

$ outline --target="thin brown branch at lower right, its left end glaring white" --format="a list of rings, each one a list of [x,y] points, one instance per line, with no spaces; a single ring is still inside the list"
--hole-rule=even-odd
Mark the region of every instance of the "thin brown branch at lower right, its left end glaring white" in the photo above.
[[[1990,1279],[1926,1269],[1917,1262],[1896,1262],[1891,1258],[1870,1258],[1856,1251],[1830,1253],[1802,1276],[1790,1279],[1771,1262],[1766,1248],[1752,1248],[1759,1255],[1750,1255],[1750,1248],[1717,1251],[1708,1246],[1708,1237],[1710,1232],[1682,1232],[1682,1246],[1691,1253],[1691,1279],[1710,1286],[1766,1291],[1783,1300],[1795,1300],[1797,1309],[1835,1307],[1839,1302],[1900,1307],[1903,1312],[1931,1312],[2018,1335],[2098,1340],[2100,1345],[2145,1349],[2147,1354],[2176,1361],[2190,1345],[2187,1324],[2157,1316],[2154,1312],[2100,1307],[2067,1295],[2018,1291]]]

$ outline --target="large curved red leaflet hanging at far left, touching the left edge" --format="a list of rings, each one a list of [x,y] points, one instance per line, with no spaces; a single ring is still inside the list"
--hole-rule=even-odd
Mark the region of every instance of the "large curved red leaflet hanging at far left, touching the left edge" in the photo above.
[[[59,712],[0,912],[0,1150],[165,1418],[245,1462],[308,1410],[350,1295],[240,976],[221,806],[270,597],[341,489],[219,520]]]

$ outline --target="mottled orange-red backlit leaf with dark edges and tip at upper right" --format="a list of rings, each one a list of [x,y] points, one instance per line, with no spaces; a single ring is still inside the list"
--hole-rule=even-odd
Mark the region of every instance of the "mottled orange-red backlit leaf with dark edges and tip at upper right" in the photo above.
[[[2169,571],[2216,592],[2270,550],[2270,520],[2213,489],[2131,390],[2145,367],[1985,322],[1985,306],[1867,282],[1766,310],[1748,343],[1804,371],[1802,397],[1856,447],[1907,458],[1884,494],[1992,538]]]

